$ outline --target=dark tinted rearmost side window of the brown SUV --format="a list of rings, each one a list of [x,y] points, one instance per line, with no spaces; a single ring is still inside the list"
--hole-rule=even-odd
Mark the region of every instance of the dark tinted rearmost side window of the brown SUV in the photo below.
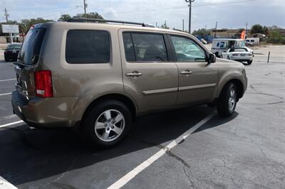
[[[66,62],[71,64],[109,63],[109,33],[91,30],[68,31]]]

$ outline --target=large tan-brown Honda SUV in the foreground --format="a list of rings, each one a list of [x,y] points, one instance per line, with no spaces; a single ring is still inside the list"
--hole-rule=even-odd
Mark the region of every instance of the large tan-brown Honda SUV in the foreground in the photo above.
[[[14,63],[14,112],[33,127],[80,128],[103,147],[150,112],[216,104],[233,114],[247,89],[244,65],[216,59],[188,33],[118,22],[33,26]]]

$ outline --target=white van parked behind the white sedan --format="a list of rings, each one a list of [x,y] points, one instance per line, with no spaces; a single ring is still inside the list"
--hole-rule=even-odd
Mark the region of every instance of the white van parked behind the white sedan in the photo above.
[[[245,46],[243,39],[236,39],[236,38],[214,38],[213,44],[211,48],[211,52],[214,53],[217,57],[220,57],[222,53],[227,52],[229,48],[247,48]],[[247,50],[253,53],[253,50],[247,48]]]

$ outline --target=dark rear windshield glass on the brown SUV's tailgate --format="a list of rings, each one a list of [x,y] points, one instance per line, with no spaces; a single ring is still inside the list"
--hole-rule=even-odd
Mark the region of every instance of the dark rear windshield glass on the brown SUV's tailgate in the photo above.
[[[33,28],[28,31],[19,53],[21,63],[31,65],[38,61],[45,33],[46,28]]]

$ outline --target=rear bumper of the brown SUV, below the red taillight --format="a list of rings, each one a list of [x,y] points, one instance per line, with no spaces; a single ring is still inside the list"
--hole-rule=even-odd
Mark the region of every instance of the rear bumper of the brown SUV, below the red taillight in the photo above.
[[[18,91],[12,92],[13,111],[33,127],[72,127],[81,120],[79,112],[84,103],[78,97],[53,97],[28,99]]]

